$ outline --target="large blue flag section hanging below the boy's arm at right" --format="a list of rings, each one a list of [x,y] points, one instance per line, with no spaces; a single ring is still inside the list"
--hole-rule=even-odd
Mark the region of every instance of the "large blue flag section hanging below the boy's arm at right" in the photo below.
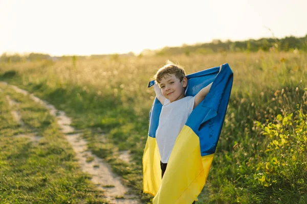
[[[211,82],[210,82],[211,83]],[[209,93],[193,110],[186,125],[200,138],[201,155],[211,155],[220,138],[233,83],[228,64],[216,75]]]

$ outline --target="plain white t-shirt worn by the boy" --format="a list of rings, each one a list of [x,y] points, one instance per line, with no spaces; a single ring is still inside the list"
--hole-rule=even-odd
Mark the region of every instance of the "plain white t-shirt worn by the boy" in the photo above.
[[[186,96],[172,103],[165,99],[156,132],[156,140],[162,163],[168,162],[177,136],[193,111],[193,106],[193,96]]]

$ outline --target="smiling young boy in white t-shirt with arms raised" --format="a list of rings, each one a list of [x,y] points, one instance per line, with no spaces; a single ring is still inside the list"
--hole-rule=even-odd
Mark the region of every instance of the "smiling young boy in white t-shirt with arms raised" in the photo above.
[[[188,83],[185,71],[183,67],[175,65],[171,61],[167,61],[166,65],[157,71],[155,81],[156,84],[153,88],[158,100],[163,105],[156,132],[163,177],[177,136],[181,132],[192,110],[208,94],[212,83],[203,88],[194,97],[185,96],[185,88]]]

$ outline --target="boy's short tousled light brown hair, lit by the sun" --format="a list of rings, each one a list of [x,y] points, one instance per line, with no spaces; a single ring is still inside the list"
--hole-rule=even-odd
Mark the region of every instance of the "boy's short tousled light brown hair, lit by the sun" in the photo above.
[[[174,64],[171,61],[167,60],[166,64],[161,67],[153,77],[155,78],[155,81],[159,84],[162,80],[162,77],[169,74],[174,74],[180,80],[180,82],[182,82],[183,78],[185,78],[186,76],[184,68],[182,66],[180,66],[179,64]]]

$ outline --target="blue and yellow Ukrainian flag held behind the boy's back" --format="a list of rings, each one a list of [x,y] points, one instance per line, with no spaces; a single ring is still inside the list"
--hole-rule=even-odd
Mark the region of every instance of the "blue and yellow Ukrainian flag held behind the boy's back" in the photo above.
[[[221,71],[220,71],[221,68]],[[156,98],[149,113],[149,132],[143,155],[143,190],[153,203],[192,203],[201,193],[220,137],[233,82],[228,64],[187,75],[186,96],[212,83],[205,99],[192,111],[180,132],[161,179],[156,130],[162,104]],[[148,87],[155,82],[149,82]],[[174,118],[175,119],[175,118]]]

